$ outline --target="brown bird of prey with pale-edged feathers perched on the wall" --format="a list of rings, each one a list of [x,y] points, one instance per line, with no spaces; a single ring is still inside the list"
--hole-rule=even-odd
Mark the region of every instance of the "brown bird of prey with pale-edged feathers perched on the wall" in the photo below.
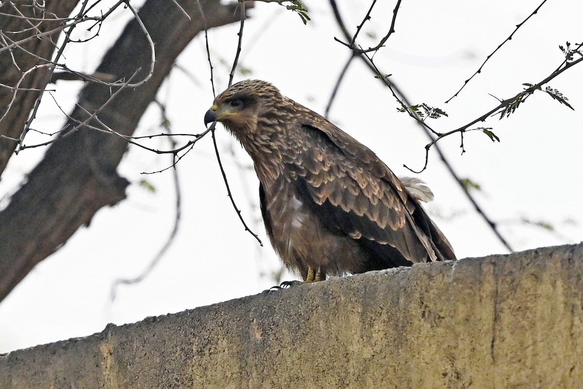
[[[269,239],[304,282],[417,262],[455,260],[419,200],[373,151],[268,82],[245,80],[216,97],[205,125],[221,122],[259,178]]]

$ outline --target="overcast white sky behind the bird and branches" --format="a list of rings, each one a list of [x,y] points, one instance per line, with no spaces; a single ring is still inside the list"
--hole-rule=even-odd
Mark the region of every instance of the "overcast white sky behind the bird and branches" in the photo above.
[[[113,2],[112,2],[113,3]],[[245,22],[241,65],[250,76],[272,82],[287,97],[324,113],[326,103],[349,52],[333,41],[341,34],[326,1],[306,1],[311,22],[307,26],[285,8],[258,3]],[[368,2],[342,1],[347,26],[354,29],[366,13]],[[373,44],[366,33],[386,33],[394,1],[378,2],[361,43]],[[536,83],[563,60],[558,46],[580,43],[583,2],[547,2],[512,40],[484,66],[451,103],[444,101],[462,86],[491,51],[514,30],[515,25],[538,6],[540,0],[508,2],[467,0],[435,2],[404,1],[396,33],[376,56],[375,62],[391,73],[412,103],[427,103],[447,111],[448,118],[431,122],[446,132],[479,117],[522,89]],[[70,45],[66,61],[73,69],[91,72],[100,54],[109,47],[131,17],[120,9],[117,19],[106,22],[99,40]],[[237,45],[238,24],[209,31],[215,61],[217,92],[227,85],[230,63]],[[203,36],[195,38],[178,69],[161,87],[159,100],[168,106],[174,132],[202,132],[203,115],[212,104],[209,69]],[[220,64],[226,61],[226,65]],[[570,110],[539,92],[508,119],[490,118],[482,127],[493,127],[500,143],[479,131],[465,136],[464,155],[459,136],[440,141],[461,177],[482,186],[477,201],[501,224],[501,232],[515,250],[563,243],[578,243],[583,236],[581,166],[583,156],[583,66],[552,80],[575,108]],[[59,82],[55,99],[69,111],[75,103],[79,82]],[[143,117],[137,135],[159,133],[159,111],[152,106]],[[340,87],[331,120],[373,149],[396,174],[409,174],[403,164],[420,168],[424,162],[425,135],[406,114],[396,112],[388,90],[355,61]],[[56,131],[63,115],[47,96],[36,128]],[[159,170],[169,156],[130,148],[120,173],[133,184],[128,198],[113,208],[102,209],[90,227],[82,228],[65,246],[41,262],[0,303],[0,352],[103,330],[107,323],[124,324],[147,316],[174,313],[259,293],[273,285],[269,272],[279,260],[269,246],[257,207],[258,182],[249,169],[250,159],[218,126],[231,190],[243,215],[265,243],[259,247],[245,233],[226,197],[210,136],[178,164],[182,188],[182,224],[175,243],[156,269],[139,285],[121,286],[110,301],[117,278],[138,275],[167,239],[174,219],[174,185],[166,171],[147,176],[154,194],[137,183],[144,171]],[[44,141],[27,135],[26,142]],[[154,143],[163,148],[161,141]],[[235,157],[229,150],[235,150]],[[0,194],[15,190],[43,150],[29,149],[10,160]],[[419,175],[436,194],[429,205],[437,224],[451,241],[459,258],[507,253],[448,175],[435,152],[429,168]],[[521,218],[544,220],[557,233],[520,223]],[[286,279],[293,278],[287,275]]]

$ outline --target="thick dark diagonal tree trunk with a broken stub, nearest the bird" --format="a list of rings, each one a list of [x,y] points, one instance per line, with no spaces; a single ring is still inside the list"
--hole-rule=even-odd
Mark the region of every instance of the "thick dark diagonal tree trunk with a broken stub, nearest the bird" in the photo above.
[[[94,113],[115,131],[132,135],[148,104],[154,100],[176,57],[204,30],[196,0],[178,1],[189,20],[173,1],[147,0],[139,16],[156,48],[152,78],[139,87],[125,87],[106,106],[117,89],[87,83],[78,104]],[[207,27],[237,22],[237,3],[201,1]],[[104,56],[97,72],[131,82],[144,78],[150,69],[150,45],[136,20],[132,20]],[[68,128],[89,117],[81,108],[73,110]],[[94,127],[101,125],[94,119]],[[0,300],[45,257],[57,250],[94,213],[125,198],[129,184],[118,176],[117,166],[128,143],[120,136],[82,126],[61,136],[27,177],[26,184],[0,212]]]

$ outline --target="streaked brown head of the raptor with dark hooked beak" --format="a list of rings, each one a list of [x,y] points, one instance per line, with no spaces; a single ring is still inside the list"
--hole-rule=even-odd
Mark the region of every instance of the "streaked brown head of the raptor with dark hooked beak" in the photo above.
[[[257,131],[258,120],[268,116],[276,103],[281,103],[283,96],[279,90],[268,82],[245,80],[233,84],[219,94],[205,114],[205,125],[213,121],[222,122],[225,127],[240,137]]]

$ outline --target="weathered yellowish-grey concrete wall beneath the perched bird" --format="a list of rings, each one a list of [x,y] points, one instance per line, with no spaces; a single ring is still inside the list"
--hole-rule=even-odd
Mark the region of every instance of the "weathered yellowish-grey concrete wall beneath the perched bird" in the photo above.
[[[371,272],[0,356],[2,388],[581,388],[583,246]]]

